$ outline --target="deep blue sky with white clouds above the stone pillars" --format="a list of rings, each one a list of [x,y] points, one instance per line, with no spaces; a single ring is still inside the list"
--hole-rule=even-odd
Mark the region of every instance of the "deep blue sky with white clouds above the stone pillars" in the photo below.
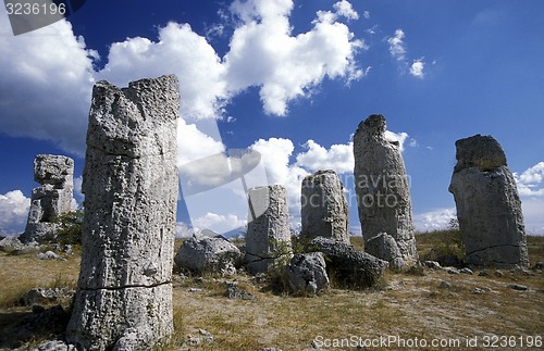
[[[333,168],[353,193],[351,134],[381,113],[403,141],[418,229],[453,215],[455,141],[483,134],[506,151],[527,231],[544,235],[543,15],[539,0],[94,0],[14,37],[1,9],[0,233],[24,228],[35,154],[74,158],[81,181],[95,82],[175,73],[180,164],[259,151],[294,224],[306,174]],[[244,225],[239,190],[181,202],[178,221]]]

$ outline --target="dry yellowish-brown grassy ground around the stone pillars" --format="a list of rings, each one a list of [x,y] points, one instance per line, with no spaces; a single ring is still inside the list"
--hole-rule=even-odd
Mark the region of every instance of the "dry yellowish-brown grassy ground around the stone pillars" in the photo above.
[[[447,233],[419,235],[418,250],[421,255],[441,245],[446,250],[448,245],[453,246],[448,242],[456,240]],[[354,241],[362,247],[360,238],[354,238]],[[544,261],[544,238],[530,237],[528,245],[531,264]],[[0,253],[0,339],[7,342],[14,323],[29,312],[28,308],[16,305],[18,297],[37,286],[73,286],[78,274],[78,255],[64,262],[51,262],[39,261],[34,255]],[[409,349],[420,346],[420,350],[438,349],[432,347],[433,340],[449,343],[449,348],[443,349],[469,349],[468,338],[474,340],[477,337],[479,348],[483,349],[485,341],[493,341],[492,336],[516,337],[511,339],[516,340],[512,349],[521,349],[521,340],[527,342],[529,337],[544,337],[542,272],[502,271],[502,276],[497,276],[495,269],[489,269],[487,276],[478,273],[449,275],[430,269],[425,269],[424,275],[387,273],[387,286],[382,290],[333,288],[318,298],[274,294],[263,289],[264,283],[237,275],[235,279],[255,296],[252,300],[228,300],[224,297],[223,278],[182,278],[176,273],[176,331],[162,349],[189,349],[190,336],[203,335],[200,329],[210,333],[213,341],[190,347],[191,350],[260,350],[267,347],[284,351],[312,350],[312,341],[324,349],[341,344],[344,347],[338,349],[348,349],[360,341],[359,337],[362,341],[369,340],[367,342],[372,339],[380,341],[380,337],[391,338],[393,342],[388,349],[398,349],[403,346],[398,342],[403,340],[408,342],[405,346],[410,346],[409,342],[416,342],[418,338],[419,343]],[[441,288],[442,281],[452,286]],[[529,289],[518,291],[510,287],[512,284]],[[403,340],[395,342],[395,337]],[[428,342],[426,347],[421,347],[423,340]],[[5,347],[5,343],[0,347]],[[537,349],[543,347],[533,348]]]

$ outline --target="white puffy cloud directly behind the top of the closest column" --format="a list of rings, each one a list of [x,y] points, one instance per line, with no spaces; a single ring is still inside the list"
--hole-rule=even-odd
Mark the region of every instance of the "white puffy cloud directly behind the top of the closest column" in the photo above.
[[[218,116],[226,99],[225,67],[207,39],[188,24],[169,23],[159,29],[157,42],[136,37],[112,43],[97,79],[126,86],[131,80],[172,73],[180,79],[182,116]]]

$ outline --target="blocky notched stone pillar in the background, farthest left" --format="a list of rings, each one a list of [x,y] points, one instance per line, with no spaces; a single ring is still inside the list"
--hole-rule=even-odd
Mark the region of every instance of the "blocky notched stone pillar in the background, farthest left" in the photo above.
[[[58,215],[72,210],[74,192],[74,160],[52,154],[34,159],[34,188],[22,242],[45,242],[57,237],[58,226],[51,223]]]

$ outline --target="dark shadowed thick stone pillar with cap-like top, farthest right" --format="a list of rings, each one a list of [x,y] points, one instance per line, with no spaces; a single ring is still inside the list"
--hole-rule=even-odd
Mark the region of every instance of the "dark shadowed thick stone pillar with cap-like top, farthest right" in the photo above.
[[[491,136],[459,139],[449,185],[467,264],[528,266],[521,201],[500,145]]]

